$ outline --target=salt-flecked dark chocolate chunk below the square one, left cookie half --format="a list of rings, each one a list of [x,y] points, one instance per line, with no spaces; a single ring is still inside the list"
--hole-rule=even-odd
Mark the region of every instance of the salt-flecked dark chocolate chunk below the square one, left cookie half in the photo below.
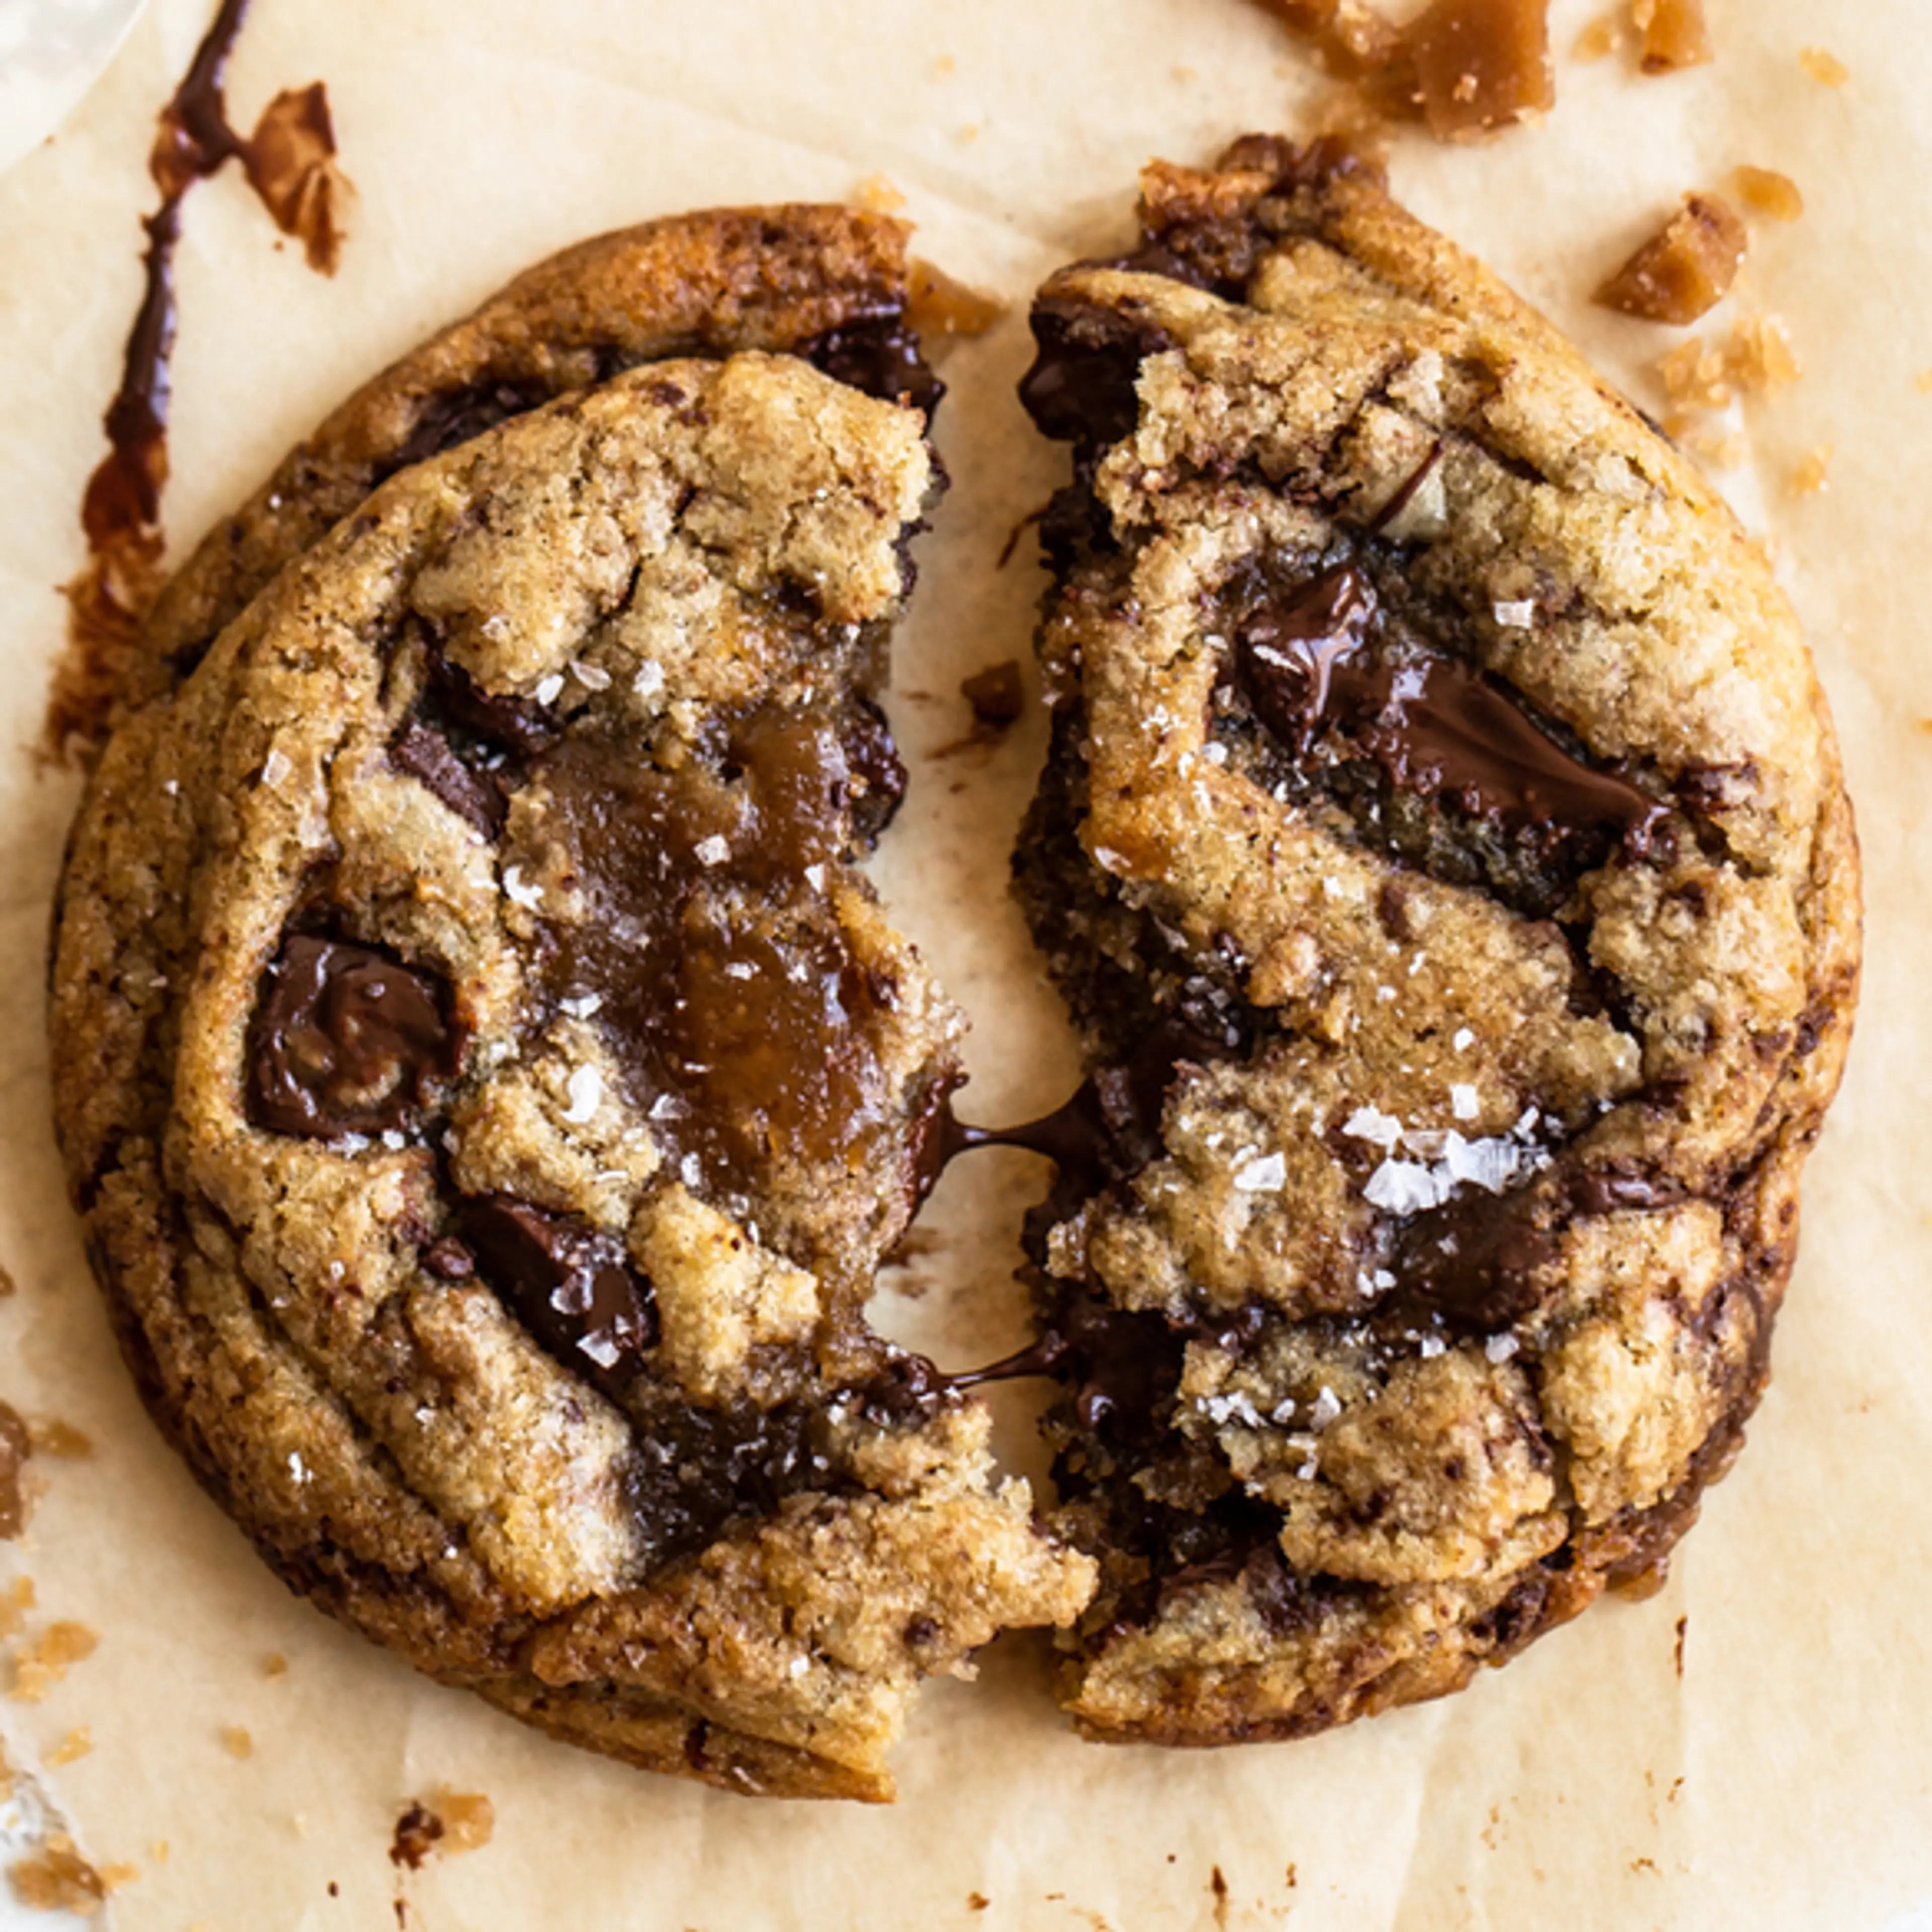
[[[483,1279],[524,1327],[616,1401],[657,1347],[657,1296],[630,1265],[624,1242],[508,1194],[464,1200],[456,1225]]]

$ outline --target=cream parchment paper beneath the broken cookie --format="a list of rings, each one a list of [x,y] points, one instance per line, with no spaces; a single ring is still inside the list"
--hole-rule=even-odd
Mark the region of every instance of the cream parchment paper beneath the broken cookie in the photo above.
[[[1932,1926],[1932,17],[1924,0],[1710,0],[1714,68],[1640,79],[1569,48],[1559,104],[1480,151],[1420,139],[1395,185],[1544,303],[1650,408],[1675,332],[1586,305],[1681,191],[1737,162],[1789,172],[1808,213],[1762,226],[1725,311],[1776,311],[1804,379],[1747,412],[1723,481],[1776,543],[1837,709],[1861,808],[1868,974],[1851,1078],[1806,1180],[1777,1379],[1737,1472],[1648,1604],[1605,1604],[1445,1704],[1304,1745],[1165,1754],[1078,1743],[1045,1652],[1007,1640],[978,1685],[923,1696],[893,1810],[752,1804],[551,1745],[444,1692],[288,1598],[162,1451],[97,1306],[50,1148],[41,974],[75,802],[37,769],[54,583],[137,298],[153,114],[211,12],[155,0],[58,139],[0,182],[0,1395],[85,1430],[0,1584],[100,1633],[44,1704],[0,1702],[15,1762],[75,1725],[93,1752],[43,1785],[97,1862],[139,1876],[102,1918],[147,1932],[456,1928],[1905,1928]],[[1822,41],[1851,70],[1812,79]],[[885,174],[920,247],[1014,303],[962,346],[939,442],[954,477],[923,541],[898,657],[908,753],[958,738],[962,674],[1028,657],[1030,545],[995,558],[1063,456],[1014,400],[1024,299],[1115,245],[1134,172],[1291,129],[1314,91],[1242,0],[259,0],[230,95],[328,81],[359,207],[342,272],[309,274],[240,182],[197,191],[182,255],[176,547],[323,410],[510,272],[599,228],[724,201],[842,197]],[[1793,497],[1830,446],[1826,491]],[[968,1109],[1065,1092],[1072,1055],[1005,898],[1039,757],[914,757],[877,877],[974,1016]],[[1041,1175],[964,1163],[881,1300],[958,1364],[1018,1341],[1009,1283]],[[1018,1466],[1026,1399],[1003,1391]],[[1681,1633],[1681,1675],[1677,1667]],[[288,1658],[270,1681],[263,1660]],[[253,1756],[230,1756],[243,1725]],[[487,1793],[495,1841],[398,1880],[404,1799]],[[156,1849],[166,1841],[166,1859]],[[338,1893],[338,1895],[332,1895]],[[985,1899],[974,1909],[972,1897]],[[398,1909],[396,1899],[404,1899]],[[100,1922],[100,1920],[97,1920]]]

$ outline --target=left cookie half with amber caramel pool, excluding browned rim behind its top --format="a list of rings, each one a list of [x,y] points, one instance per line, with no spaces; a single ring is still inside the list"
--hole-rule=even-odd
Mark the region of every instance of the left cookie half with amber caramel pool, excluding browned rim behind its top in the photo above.
[[[126,1354],[292,1586],[574,1743],[866,1799],[918,1679],[1094,1584],[862,1318],[960,1032],[854,864],[935,479],[875,367],[442,392],[257,498],[99,763],[52,1010]]]

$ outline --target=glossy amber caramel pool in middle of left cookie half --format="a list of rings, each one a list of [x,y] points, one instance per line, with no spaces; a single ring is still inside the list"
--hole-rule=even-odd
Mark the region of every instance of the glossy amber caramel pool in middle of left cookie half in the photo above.
[[[568,738],[533,782],[585,900],[553,927],[553,997],[601,997],[634,1103],[709,1186],[744,1194],[779,1161],[856,1161],[889,1130],[877,1036],[898,989],[813,883],[852,842],[846,719],[753,711],[721,750],[717,771],[665,773]]]

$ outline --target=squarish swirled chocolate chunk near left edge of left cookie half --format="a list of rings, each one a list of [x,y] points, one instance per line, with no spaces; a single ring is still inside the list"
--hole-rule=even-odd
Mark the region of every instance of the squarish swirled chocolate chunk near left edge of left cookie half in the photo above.
[[[249,1024],[247,1113],[276,1134],[381,1134],[456,1072],[448,987],[386,952],[294,933]]]

